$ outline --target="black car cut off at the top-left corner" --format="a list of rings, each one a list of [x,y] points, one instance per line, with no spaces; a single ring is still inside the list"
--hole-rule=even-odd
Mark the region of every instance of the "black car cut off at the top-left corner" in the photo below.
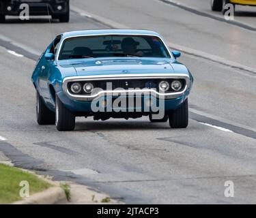
[[[70,20],[70,0],[0,0],[0,22],[6,15],[19,16],[23,9],[20,5],[29,5],[29,15],[51,15],[60,22]]]

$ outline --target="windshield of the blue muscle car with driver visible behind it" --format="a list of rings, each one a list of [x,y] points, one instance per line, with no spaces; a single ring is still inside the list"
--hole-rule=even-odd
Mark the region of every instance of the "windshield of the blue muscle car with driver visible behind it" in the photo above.
[[[63,42],[59,60],[96,57],[169,58],[162,40],[148,35],[100,35],[68,38]]]

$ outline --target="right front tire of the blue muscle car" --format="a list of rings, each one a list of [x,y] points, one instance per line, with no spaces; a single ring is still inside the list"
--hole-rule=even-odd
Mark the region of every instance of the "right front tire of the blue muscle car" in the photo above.
[[[188,126],[188,99],[177,110],[169,112],[171,128],[186,128]]]

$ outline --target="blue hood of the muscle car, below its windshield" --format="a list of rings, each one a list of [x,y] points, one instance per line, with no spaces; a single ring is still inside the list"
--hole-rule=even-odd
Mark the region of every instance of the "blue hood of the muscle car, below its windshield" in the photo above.
[[[64,67],[66,64],[62,64]],[[173,67],[168,59],[90,59],[85,61],[69,61],[77,76],[102,74],[171,74]],[[66,65],[67,67],[67,65]]]

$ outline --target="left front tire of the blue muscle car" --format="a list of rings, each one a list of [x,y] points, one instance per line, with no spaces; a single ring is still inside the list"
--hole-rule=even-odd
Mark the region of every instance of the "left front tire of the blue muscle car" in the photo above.
[[[59,97],[56,95],[55,104],[55,114],[56,114],[56,127],[59,131],[72,131],[76,123],[76,116],[70,110],[68,110]]]

